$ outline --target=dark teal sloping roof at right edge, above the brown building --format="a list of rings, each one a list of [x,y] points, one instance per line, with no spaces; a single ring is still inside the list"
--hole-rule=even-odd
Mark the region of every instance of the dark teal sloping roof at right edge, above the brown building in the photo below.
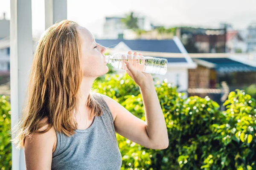
[[[224,73],[256,71],[256,67],[235,61],[231,58],[197,58],[194,61],[200,65],[209,66],[216,71]]]

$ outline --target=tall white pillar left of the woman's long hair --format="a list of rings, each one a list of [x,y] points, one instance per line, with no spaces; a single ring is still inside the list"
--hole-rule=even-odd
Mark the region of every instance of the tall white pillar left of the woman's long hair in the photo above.
[[[32,65],[32,9],[31,0],[11,0],[10,21],[10,78],[11,125],[21,116]],[[12,144],[12,170],[25,170],[24,151]]]

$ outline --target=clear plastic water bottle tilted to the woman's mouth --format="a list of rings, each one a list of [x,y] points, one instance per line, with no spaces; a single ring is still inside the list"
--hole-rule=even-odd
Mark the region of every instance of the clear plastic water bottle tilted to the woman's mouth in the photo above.
[[[166,74],[167,59],[134,56],[133,54],[116,53],[106,56],[106,62],[114,68],[126,70],[125,61],[132,64],[137,70],[152,74]]]

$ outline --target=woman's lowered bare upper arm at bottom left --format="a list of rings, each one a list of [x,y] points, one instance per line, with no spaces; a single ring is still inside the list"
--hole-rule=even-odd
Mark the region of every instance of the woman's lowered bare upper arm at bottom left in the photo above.
[[[44,127],[42,127],[44,128]],[[25,140],[26,170],[50,170],[56,133],[52,127],[46,133],[34,133]]]

